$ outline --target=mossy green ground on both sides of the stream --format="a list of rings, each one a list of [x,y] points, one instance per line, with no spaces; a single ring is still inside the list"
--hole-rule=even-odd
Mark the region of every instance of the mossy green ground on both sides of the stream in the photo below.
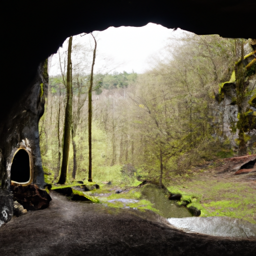
[[[184,174],[174,174],[168,177],[167,182],[165,179],[164,185],[169,192],[182,195],[178,202],[180,205],[186,204],[187,207],[194,206],[200,209],[200,216],[229,216],[256,224],[255,173],[234,175],[231,172],[221,172],[218,168],[221,165],[223,162],[220,160],[203,167],[192,168]],[[141,181],[136,180],[135,177],[122,177],[117,169],[115,171],[117,173],[107,172],[108,179],[103,179],[112,181],[112,184],[107,185],[97,179],[99,189],[74,192],[110,207],[149,209],[159,214],[155,205],[142,196],[141,187],[138,186]],[[118,180],[115,180],[116,176]],[[95,182],[84,182],[84,184],[90,186]],[[73,182],[61,187],[74,185],[80,184]],[[52,186],[52,189],[57,187],[60,186]]]

